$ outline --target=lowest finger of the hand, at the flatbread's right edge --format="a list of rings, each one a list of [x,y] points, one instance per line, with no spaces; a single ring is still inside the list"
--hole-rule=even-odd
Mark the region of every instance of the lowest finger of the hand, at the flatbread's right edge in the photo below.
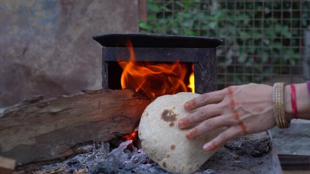
[[[237,138],[238,136],[241,136],[241,135],[242,135],[242,131],[240,127],[238,126],[230,127],[228,130],[220,133],[217,137],[215,137],[209,143],[203,145],[203,149],[206,151],[215,150],[216,148],[227,143],[229,140]]]

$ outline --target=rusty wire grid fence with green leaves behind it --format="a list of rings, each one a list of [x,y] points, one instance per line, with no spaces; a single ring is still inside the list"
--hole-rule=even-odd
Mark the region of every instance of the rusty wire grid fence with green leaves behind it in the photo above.
[[[145,31],[222,39],[217,47],[222,89],[303,82],[309,26],[310,0],[148,0]]]

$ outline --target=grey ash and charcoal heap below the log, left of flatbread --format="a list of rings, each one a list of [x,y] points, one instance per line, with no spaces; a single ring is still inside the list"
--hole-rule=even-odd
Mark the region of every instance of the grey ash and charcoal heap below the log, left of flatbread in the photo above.
[[[52,171],[65,167],[66,174],[87,169],[86,174],[170,174],[152,161],[142,149],[132,145],[132,140],[121,143],[110,152],[109,143],[93,145],[85,154],[77,155],[60,163],[43,166],[40,171]],[[214,171],[196,172],[212,174]]]

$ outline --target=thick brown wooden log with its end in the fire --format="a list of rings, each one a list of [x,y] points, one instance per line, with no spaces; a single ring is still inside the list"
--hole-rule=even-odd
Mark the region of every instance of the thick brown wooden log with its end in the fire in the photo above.
[[[18,164],[63,159],[81,145],[131,133],[151,102],[132,89],[35,97],[0,115],[0,156]]]

